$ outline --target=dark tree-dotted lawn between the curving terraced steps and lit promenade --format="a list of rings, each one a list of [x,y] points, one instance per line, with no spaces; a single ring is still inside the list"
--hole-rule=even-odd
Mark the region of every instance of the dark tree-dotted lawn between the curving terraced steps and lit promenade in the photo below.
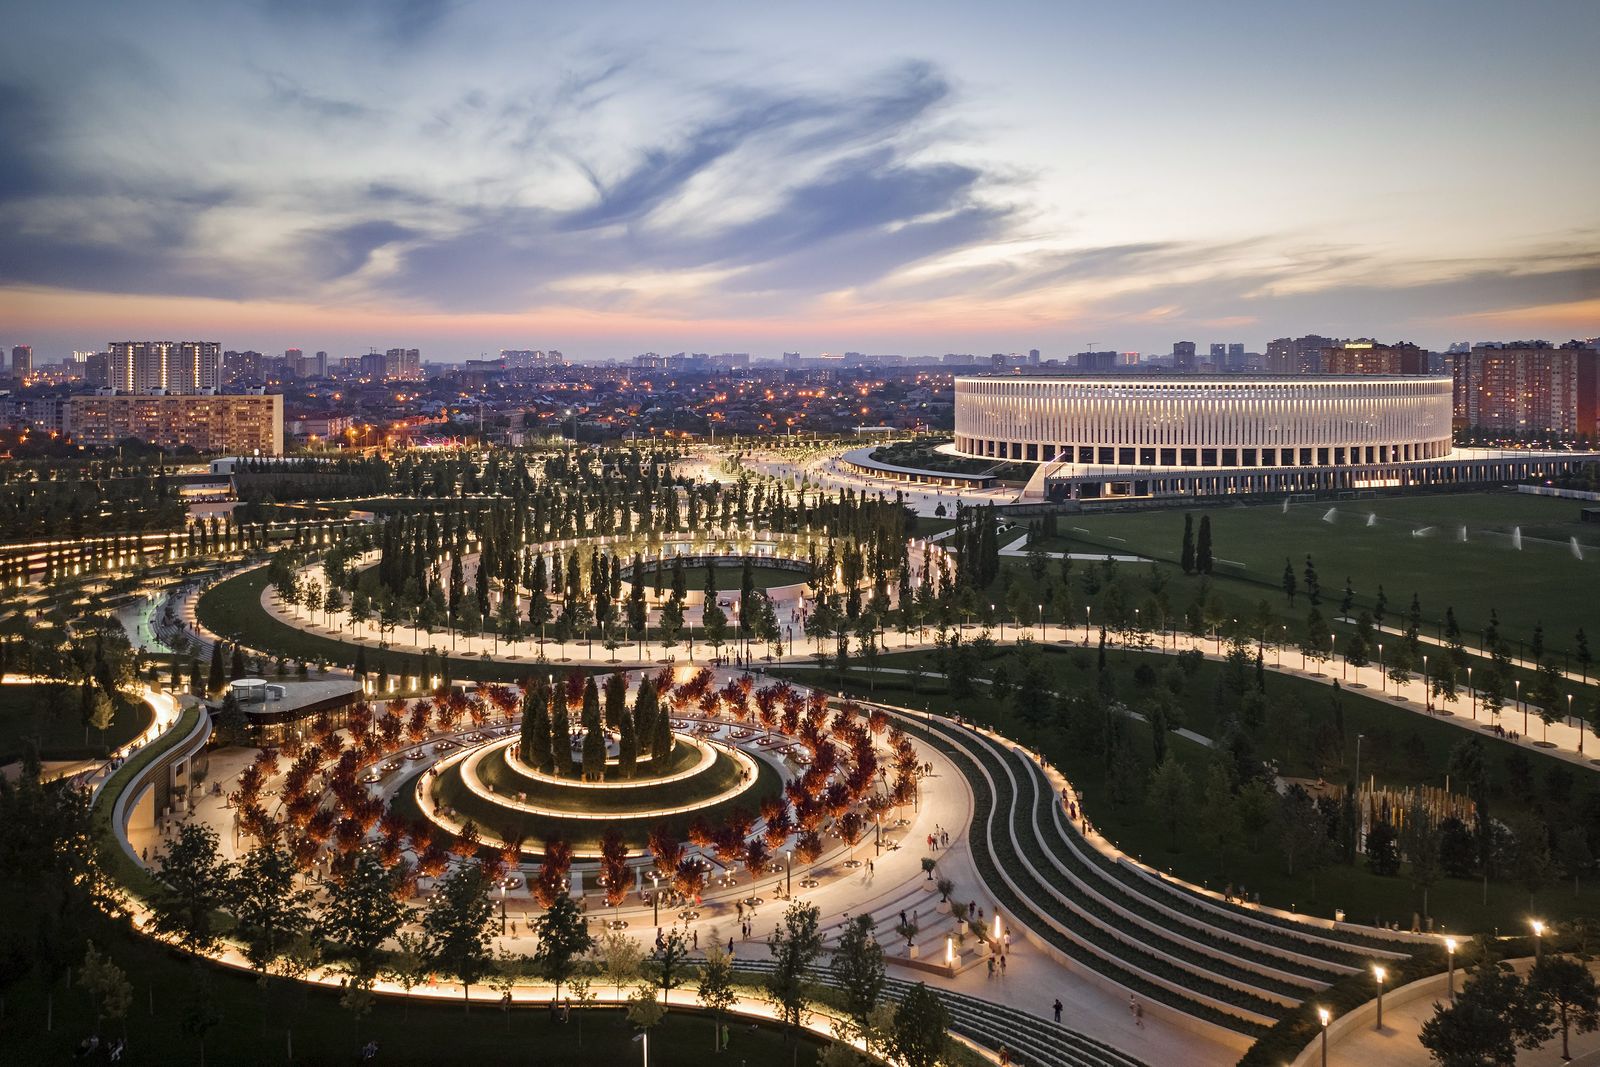
[[[918,661],[926,670],[936,670],[931,656],[925,653],[883,656],[882,665],[904,669]],[[986,670],[1008,661],[1010,653],[1005,653],[987,662]],[[1058,646],[1046,654],[1046,664],[1058,689],[1094,686],[1094,662],[1093,649],[1062,649]],[[1115,697],[1134,710],[1141,707],[1141,701],[1147,699],[1147,689],[1133,677],[1141,662],[1163,669],[1173,661],[1155,653],[1107,653],[1107,669],[1112,672]],[[1187,680],[1179,696],[1184,725],[1205,736],[1214,736],[1218,728],[1213,691],[1219,672],[1221,664],[1206,661]],[[794,670],[789,672],[789,677],[800,683],[822,685],[829,689],[838,688],[834,672],[827,672],[826,680],[816,670]],[[979,697],[957,701],[949,696],[942,680],[923,678],[917,685],[918,691],[912,693],[910,680],[902,675],[880,675],[869,680],[866,672],[851,673],[845,688],[861,696],[877,696],[877,699],[891,704],[960,713],[990,723],[1008,736],[1029,739],[1027,726],[1018,721],[1010,704],[994,701],[986,689],[981,689]],[[1323,725],[1334,721],[1331,685],[1290,678],[1269,670],[1267,694],[1266,723],[1259,731],[1254,731],[1258,755],[1277,760],[1282,774],[1317,777],[1310,737]],[[1354,771],[1355,739],[1357,734],[1365,734],[1362,742],[1363,779],[1376,777],[1379,787],[1403,787],[1406,784],[1442,787],[1445,785],[1451,747],[1472,736],[1448,723],[1394,707],[1382,699],[1360,696],[1358,691],[1347,691],[1342,705],[1344,742],[1333,753],[1336,766],[1328,773],[1330,781],[1338,781]],[[1147,774],[1154,768],[1149,726],[1133,723],[1131,729],[1136,752],[1144,763],[1144,774]],[[1600,782],[1592,773],[1571,768],[1571,774],[1568,774],[1566,765],[1542,755],[1538,749],[1517,747],[1488,734],[1480,736],[1494,782],[1494,817],[1504,819],[1510,813],[1526,808],[1534,797],[1539,797],[1541,803],[1549,803],[1542,798],[1547,798],[1552,789],[1568,790],[1563,806],[1576,817],[1594,817],[1595,813],[1600,813],[1600,795],[1597,795]],[[1213,886],[1234,881],[1235,886],[1246,886],[1250,893],[1259,893],[1264,904],[1326,917],[1341,907],[1349,912],[1350,918],[1360,921],[1382,918],[1386,921],[1398,920],[1408,926],[1411,912],[1421,909],[1421,893],[1403,875],[1398,878],[1373,875],[1360,857],[1354,867],[1333,864],[1322,870],[1315,880],[1314,894],[1312,878],[1304,873],[1294,877],[1285,873],[1277,843],[1270,837],[1261,841],[1259,849],[1242,849],[1230,854],[1226,862],[1190,843],[1187,838],[1192,835],[1187,830],[1179,835],[1179,843],[1173,848],[1166,830],[1142,801],[1117,805],[1109,800],[1110,789],[1104,760],[1099,755],[1085,753],[1074,744],[1074,737],[1069,725],[1059,718],[1059,713],[1054,713],[1038,734],[1037,742],[1046,757],[1067,774],[1074,787],[1083,790],[1090,817],[1099,829],[1122,848],[1152,865]],[[1170,745],[1187,765],[1190,777],[1203,781],[1208,761],[1216,758],[1214,753],[1176,734],[1170,736]],[[1526,773],[1517,768],[1523,758],[1526,760]],[[1342,769],[1338,769],[1341,763]],[[1198,811],[1197,805],[1189,829],[1197,829],[1202,819],[1203,813]],[[1571,881],[1563,881],[1541,889],[1534,897],[1534,909],[1541,917],[1552,920],[1578,915],[1594,917],[1600,913],[1600,891],[1584,883],[1581,891],[1574,894]],[[1445,878],[1432,888],[1430,910],[1435,920],[1448,929],[1480,931],[1496,926],[1507,931],[1520,929],[1528,915],[1528,893],[1512,881],[1496,881],[1488,888],[1488,904],[1483,904],[1480,881]]]

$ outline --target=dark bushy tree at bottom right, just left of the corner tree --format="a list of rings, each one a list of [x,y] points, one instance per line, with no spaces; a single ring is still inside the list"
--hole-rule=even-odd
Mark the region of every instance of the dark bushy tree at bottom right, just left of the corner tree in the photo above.
[[[1483,961],[1448,1008],[1434,1006],[1418,1040],[1440,1067],[1514,1067],[1517,1049],[1550,1038],[1549,1009],[1504,963]]]

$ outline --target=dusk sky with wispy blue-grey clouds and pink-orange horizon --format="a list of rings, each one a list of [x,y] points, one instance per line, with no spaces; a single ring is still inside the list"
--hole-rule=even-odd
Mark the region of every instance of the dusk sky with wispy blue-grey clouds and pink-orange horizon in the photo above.
[[[0,344],[1590,338],[1597,53],[1594,0],[11,0]]]

